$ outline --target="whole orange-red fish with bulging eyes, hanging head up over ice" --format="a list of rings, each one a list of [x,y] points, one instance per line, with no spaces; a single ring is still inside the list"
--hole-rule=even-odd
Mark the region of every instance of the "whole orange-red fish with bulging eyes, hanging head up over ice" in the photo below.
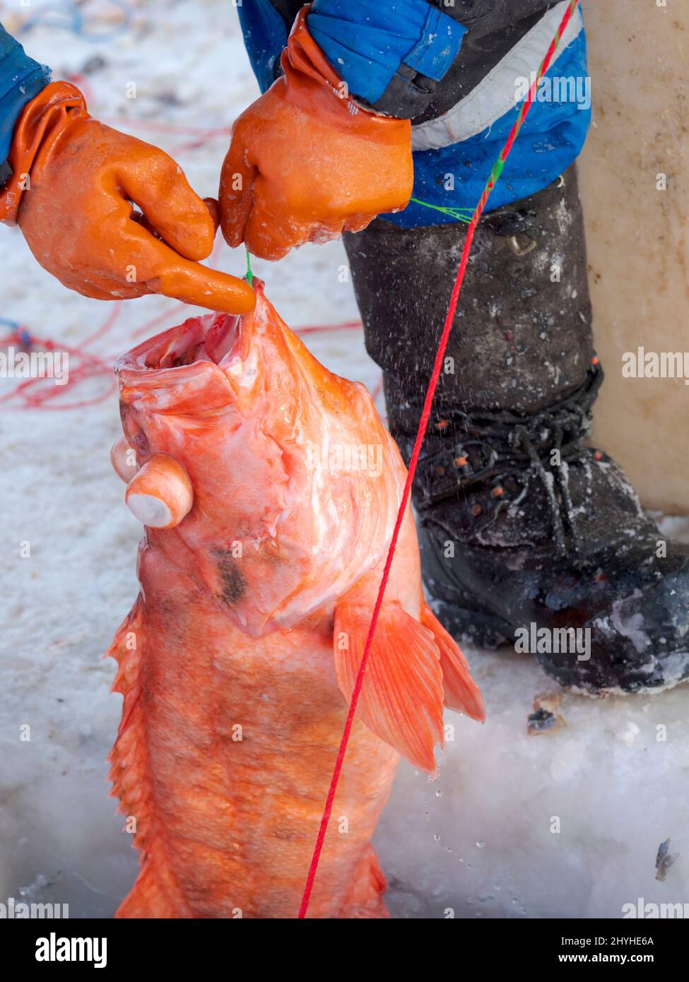
[[[113,463],[146,526],[110,649],[113,793],[142,860],[120,917],[296,916],[401,499],[368,391],[257,293],[253,313],[188,320],[117,365]],[[443,702],[484,718],[424,600],[408,510],[309,916],[385,916],[373,830],[400,754],[435,770]]]

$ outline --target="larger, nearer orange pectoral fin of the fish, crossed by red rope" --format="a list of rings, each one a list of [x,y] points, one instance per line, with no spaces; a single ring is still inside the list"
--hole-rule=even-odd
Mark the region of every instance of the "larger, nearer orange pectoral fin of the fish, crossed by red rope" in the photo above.
[[[364,654],[372,609],[335,608],[333,648],[337,684],[351,699]],[[442,673],[431,630],[397,601],[383,603],[373,635],[357,712],[375,736],[429,774],[437,770],[433,747],[442,746]]]

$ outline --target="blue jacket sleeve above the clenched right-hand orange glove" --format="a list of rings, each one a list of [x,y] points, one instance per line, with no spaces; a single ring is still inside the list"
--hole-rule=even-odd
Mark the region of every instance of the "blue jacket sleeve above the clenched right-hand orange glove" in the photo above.
[[[307,23],[352,95],[406,118],[426,108],[467,31],[428,0],[314,0]]]

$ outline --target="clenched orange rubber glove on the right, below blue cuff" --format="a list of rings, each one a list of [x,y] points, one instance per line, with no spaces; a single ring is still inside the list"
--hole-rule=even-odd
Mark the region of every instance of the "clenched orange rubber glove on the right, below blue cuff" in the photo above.
[[[284,76],[235,122],[220,175],[225,240],[265,259],[358,232],[412,193],[409,120],[349,97],[309,33],[309,10],[282,52]]]

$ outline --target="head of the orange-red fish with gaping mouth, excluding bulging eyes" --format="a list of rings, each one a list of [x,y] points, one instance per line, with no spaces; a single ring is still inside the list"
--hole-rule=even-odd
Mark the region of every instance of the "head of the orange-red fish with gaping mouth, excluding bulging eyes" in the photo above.
[[[380,562],[405,470],[366,388],[324,368],[254,282],[251,313],[192,318],[116,371],[138,466],[172,458],[191,483],[188,512],[148,544],[259,635],[327,613]]]

